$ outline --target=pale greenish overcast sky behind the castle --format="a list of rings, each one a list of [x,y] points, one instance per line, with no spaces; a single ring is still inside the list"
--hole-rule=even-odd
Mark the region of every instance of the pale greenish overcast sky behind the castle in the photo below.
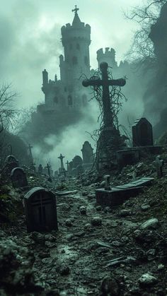
[[[116,59],[125,59],[137,25],[123,11],[142,5],[141,0],[6,0],[1,5],[1,81],[12,82],[20,94],[18,106],[44,100],[42,70],[59,76],[62,25],[71,23],[77,4],[81,21],[91,25],[91,66],[97,68],[96,51],[113,47]]]

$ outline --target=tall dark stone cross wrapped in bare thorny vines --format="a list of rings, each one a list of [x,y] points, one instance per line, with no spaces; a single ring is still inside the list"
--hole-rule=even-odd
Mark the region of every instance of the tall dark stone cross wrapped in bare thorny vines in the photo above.
[[[113,112],[110,105],[110,85],[124,86],[126,81],[123,78],[120,79],[108,79],[108,63],[100,63],[100,71],[102,73],[102,79],[86,79],[82,82],[84,86],[102,86],[103,87],[103,122],[104,127],[113,127]]]

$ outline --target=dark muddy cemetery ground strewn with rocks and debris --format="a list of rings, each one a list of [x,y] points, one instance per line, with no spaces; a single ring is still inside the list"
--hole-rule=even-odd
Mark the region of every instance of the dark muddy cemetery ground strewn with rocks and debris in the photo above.
[[[154,183],[113,208],[96,204],[95,175],[57,184],[29,174],[29,189],[69,191],[57,196],[57,232],[27,233],[28,190],[1,187],[0,295],[166,295],[167,168],[158,179],[144,160],[113,174],[112,186],[134,170]]]

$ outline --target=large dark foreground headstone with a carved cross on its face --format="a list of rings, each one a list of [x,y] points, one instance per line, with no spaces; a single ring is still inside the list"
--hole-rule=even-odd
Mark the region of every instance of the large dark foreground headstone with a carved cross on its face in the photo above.
[[[35,187],[24,197],[28,232],[58,230],[56,196],[42,187]]]

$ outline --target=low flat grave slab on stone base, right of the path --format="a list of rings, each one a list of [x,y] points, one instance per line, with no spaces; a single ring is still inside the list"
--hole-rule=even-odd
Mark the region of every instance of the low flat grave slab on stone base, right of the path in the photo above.
[[[154,178],[144,177],[134,182],[113,187],[112,190],[96,189],[96,203],[103,206],[117,206],[127,199],[137,196]]]

